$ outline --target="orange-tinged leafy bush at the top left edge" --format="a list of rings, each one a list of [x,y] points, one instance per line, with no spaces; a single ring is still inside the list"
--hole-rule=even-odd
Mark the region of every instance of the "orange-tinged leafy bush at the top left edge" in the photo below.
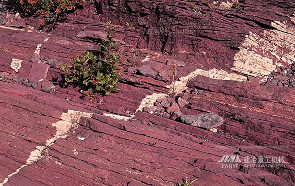
[[[63,13],[75,10],[79,0],[13,0],[16,7],[25,15],[30,17],[34,14],[41,15],[40,26],[47,23],[52,24],[54,28],[59,16]],[[83,2],[87,3],[86,0]]]

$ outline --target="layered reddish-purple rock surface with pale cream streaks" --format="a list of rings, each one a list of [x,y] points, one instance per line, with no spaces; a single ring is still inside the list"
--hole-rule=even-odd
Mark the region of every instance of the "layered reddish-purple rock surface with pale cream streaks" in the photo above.
[[[188,178],[210,186],[294,185],[294,1],[82,6],[50,35],[35,31],[38,18],[25,29],[0,27],[0,184],[175,186]],[[7,11],[0,11],[1,24],[13,25],[15,13],[1,10]],[[121,91],[91,102],[79,87],[59,87],[58,66],[85,49],[99,50],[94,40],[104,37],[108,20],[118,25],[127,63]],[[48,66],[33,64],[39,61]],[[180,106],[171,96],[171,63],[176,97],[188,102]],[[51,94],[41,91],[41,81],[30,82],[38,74]],[[208,112],[224,119],[216,133],[172,120]],[[225,155],[241,162],[222,168]],[[266,156],[284,162],[247,162]]]

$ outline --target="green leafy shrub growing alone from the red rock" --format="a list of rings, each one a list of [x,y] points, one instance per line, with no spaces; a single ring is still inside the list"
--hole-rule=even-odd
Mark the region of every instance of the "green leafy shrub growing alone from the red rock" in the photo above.
[[[118,43],[113,40],[116,26],[106,28],[106,40],[100,44],[98,57],[92,52],[85,51],[84,56],[77,56],[72,60],[70,71],[67,66],[61,66],[61,70],[66,73],[66,83],[76,83],[92,93],[100,92],[104,95],[119,90],[116,84],[119,80],[118,68],[121,62],[118,52],[114,52],[114,49],[118,49]]]

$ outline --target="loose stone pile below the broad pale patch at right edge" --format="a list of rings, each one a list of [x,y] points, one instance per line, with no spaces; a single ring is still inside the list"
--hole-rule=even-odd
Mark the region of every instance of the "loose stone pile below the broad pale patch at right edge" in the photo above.
[[[267,85],[295,88],[295,63],[287,67],[276,66],[276,71],[271,72],[267,77],[264,86]]]

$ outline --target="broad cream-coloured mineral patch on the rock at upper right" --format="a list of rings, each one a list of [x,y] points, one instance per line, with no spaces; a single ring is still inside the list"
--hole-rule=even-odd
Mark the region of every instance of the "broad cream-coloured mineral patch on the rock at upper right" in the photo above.
[[[266,76],[276,65],[295,62],[295,27],[279,21],[272,22],[271,26],[277,30],[261,34],[249,32],[234,57],[233,71],[254,77]]]

